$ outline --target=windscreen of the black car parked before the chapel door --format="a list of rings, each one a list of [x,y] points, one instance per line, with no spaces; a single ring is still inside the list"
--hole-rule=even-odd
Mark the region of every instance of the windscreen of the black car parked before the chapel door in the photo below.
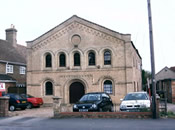
[[[87,94],[84,95],[80,101],[99,101],[101,99],[101,95],[100,94]]]

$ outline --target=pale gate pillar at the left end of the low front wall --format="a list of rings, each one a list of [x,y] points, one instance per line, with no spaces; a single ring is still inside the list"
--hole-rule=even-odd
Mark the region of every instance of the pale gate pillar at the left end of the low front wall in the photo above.
[[[60,97],[53,97],[53,113],[54,117],[58,117],[61,112],[61,99]]]

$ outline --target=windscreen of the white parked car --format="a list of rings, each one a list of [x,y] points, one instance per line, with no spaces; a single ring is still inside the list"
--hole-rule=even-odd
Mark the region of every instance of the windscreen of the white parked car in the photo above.
[[[144,93],[130,93],[125,96],[124,100],[148,100],[148,97]]]

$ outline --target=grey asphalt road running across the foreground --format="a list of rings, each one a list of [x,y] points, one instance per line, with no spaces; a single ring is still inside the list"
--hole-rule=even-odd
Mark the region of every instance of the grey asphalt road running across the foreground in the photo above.
[[[0,118],[0,130],[175,130],[175,119]]]

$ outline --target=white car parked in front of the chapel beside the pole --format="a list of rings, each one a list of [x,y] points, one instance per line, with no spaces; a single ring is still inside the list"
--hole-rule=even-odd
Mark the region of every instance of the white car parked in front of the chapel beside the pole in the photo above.
[[[140,111],[150,108],[150,98],[146,92],[131,92],[121,99],[121,111]]]

